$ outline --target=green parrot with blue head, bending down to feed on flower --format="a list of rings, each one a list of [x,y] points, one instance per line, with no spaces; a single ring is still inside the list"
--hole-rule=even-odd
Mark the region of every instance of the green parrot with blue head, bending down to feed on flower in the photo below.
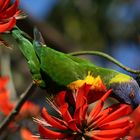
[[[138,107],[140,87],[133,77],[48,47],[37,28],[34,29],[32,41],[18,28],[14,28],[11,34],[27,59],[33,81],[40,87],[49,88],[53,85],[56,89],[73,89],[76,85],[70,83],[74,84],[74,81],[85,79],[91,74],[101,77],[107,89],[112,89],[114,98],[134,109]]]

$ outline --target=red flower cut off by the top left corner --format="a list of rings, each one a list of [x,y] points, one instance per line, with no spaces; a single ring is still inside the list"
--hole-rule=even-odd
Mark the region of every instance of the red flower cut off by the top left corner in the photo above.
[[[11,30],[16,24],[19,15],[19,0],[10,6],[10,0],[0,0],[0,33]]]

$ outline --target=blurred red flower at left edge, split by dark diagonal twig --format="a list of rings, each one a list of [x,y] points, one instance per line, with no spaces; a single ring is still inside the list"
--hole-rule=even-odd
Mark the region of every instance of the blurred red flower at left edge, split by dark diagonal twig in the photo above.
[[[0,112],[3,113],[4,116],[8,116],[16,104],[12,103],[9,99],[10,92],[6,88],[7,82],[7,77],[0,77]],[[39,111],[40,107],[38,105],[31,101],[26,101],[17,115],[16,120],[33,116],[35,117],[39,114]]]

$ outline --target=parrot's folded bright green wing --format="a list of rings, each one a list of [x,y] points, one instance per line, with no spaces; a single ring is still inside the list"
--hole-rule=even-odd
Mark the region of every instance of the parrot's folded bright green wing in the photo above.
[[[41,50],[41,69],[60,85],[83,78],[83,72],[79,69],[79,63],[73,61],[66,54],[48,47]]]

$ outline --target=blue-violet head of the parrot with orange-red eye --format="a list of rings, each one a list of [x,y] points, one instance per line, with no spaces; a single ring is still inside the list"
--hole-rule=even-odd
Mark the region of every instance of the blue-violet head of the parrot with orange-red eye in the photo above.
[[[130,104],[134,109],[140,104],[140,87],[132,77],[125,75],[122,81],[111,82],[110,88],[113,89],[115,98]]]

